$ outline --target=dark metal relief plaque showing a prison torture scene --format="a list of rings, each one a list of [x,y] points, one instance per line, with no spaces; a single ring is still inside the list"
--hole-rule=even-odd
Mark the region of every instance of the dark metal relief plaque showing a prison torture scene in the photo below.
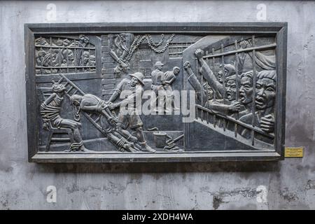
[[[196,27],[30,34],[32,160],[281,158],[286,26]]]

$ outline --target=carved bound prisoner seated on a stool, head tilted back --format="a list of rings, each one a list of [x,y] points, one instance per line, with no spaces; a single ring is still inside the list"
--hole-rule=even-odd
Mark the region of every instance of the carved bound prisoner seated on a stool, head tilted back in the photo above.
[[[43,129],[49,130],[52,127],[70,128],[73,132],[73,141],[69,150],[67,151],[89,151],[83,145],[83,140],[80,134],[80,123],[64,119],[60,117],[60,109],[62,101],[64,100],[64,93],[66,88],[64,85],[55,83],[52,85],[52,94],[48,99],[41,104],[41,117],[43,118]],[[50,125],[49,125],[50,123]]]

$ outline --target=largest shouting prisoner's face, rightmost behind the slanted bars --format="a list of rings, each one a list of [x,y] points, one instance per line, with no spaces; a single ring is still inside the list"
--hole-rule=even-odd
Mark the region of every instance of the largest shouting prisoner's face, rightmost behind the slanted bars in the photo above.
[[[276,85],[270,78],[257,80],[255,90],[255,106],[258,110],[265,110],[274,106],[276,99]]]

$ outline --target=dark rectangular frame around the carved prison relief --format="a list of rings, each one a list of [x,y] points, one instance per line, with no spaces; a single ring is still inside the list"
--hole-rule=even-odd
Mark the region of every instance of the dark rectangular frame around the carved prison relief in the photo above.
[[[106,34],[130,31],[179,34],[274,34],[276,36],[276,123],[275,151],[190,151],[184,153],[42,153],[38,151],[36,123],[36,76],[34,35]],[[190,22],[190,23],[60,23],[25,24],[27,127],[29,162],[211,162],[283,160],[286,118],[286,22]]]

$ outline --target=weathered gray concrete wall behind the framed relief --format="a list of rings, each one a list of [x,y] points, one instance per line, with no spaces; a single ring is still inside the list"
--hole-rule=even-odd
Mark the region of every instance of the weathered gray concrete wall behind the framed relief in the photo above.
[[[57,7],[56,20],[48,3]],[[286,146],[304,146],[304,158],[177,165],[27,162],[25,22],[257,22],[264,19],[259,3],[266,6],[265,21],[288,22]],[[0,209],[315,209],[314,12],[312,1],[1,1]],[[56,203],[46,202],[47,186],[56,186]]]

